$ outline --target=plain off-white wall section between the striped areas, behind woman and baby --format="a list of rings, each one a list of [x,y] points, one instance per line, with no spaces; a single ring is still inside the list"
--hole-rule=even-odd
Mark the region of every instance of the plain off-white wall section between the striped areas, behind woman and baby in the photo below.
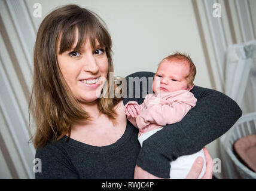
[[[35,3],[42,5],[42,18],[33,17]],[[195,84],[211,88],[190,0],[26,1],[36,29],[53,8],[69,3],[95,11],[106,22],[113,41],[116,75],[156,72],[161,59],[178,50],[190,54],[196,64]]]

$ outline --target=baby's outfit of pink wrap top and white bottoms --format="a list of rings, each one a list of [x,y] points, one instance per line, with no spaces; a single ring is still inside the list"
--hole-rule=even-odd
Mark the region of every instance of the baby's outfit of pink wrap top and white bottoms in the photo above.
[[[181,121],[188,111],[196,106],[197,99],[194,95],[187,90],[179,90],[172,93],[161,91],[160,94],[148,94],[145,97],[144,103],[139,105],[140,113],[136,118],[131,116],[127,117],[132,124],[139,128],[144,129],[143,133],[139,133],[139,143],[148,137],[160,131],[167,124],[174,124]],[[136,101],[129,101],[128,104],[137,104]],[[206,170],[206,161],[203,149],[192,155],[179,156],[175,161],[170,162],[170,178],[182,179],[187,177],[188,172],[198,156],[203,158],[203,169],[199,175],[202,178]]]

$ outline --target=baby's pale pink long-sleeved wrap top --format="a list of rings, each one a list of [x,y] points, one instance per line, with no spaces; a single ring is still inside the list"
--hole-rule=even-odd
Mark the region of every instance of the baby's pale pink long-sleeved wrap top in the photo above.
[[[144,133],[156,130],[167,124],[174,124],[181,121],[188,111],[196,106],[197,99],[187,90],[179,90],[175,92],[161,91],[160,94],[148,94],[144,102],[138,105],[136,101],[129,101],[128,104],[137,104],[140,113],[136,118],[132,116],[127,119],[137,128],[144,129]]]

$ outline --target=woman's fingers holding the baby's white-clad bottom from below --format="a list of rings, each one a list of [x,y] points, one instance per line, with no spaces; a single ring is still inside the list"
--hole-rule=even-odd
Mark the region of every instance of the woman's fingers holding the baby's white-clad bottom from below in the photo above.
[[[206,147],[203,147],[203,152],[205,153],[205,160],[206,160],[206,171],[205,175],[203,175],[202,179],[212,179],[213,167],[214,164],[212,162],[212,158]],[[190,172],[186,179],[196,179],[199,177],[201,171],[203,169],[203,158],[197,157],[196,161],[194,162]]]

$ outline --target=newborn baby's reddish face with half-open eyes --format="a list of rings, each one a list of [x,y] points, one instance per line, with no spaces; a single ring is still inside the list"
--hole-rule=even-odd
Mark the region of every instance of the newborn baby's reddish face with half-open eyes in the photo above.
[[[191,87],[188,87],[187,79],[185,79],[188,72],[188,64],[180,60],[172,59],[170,61],[162,61],[154,76],[153,91],[155,93],[159,93],[160,91],[190,91]]]

